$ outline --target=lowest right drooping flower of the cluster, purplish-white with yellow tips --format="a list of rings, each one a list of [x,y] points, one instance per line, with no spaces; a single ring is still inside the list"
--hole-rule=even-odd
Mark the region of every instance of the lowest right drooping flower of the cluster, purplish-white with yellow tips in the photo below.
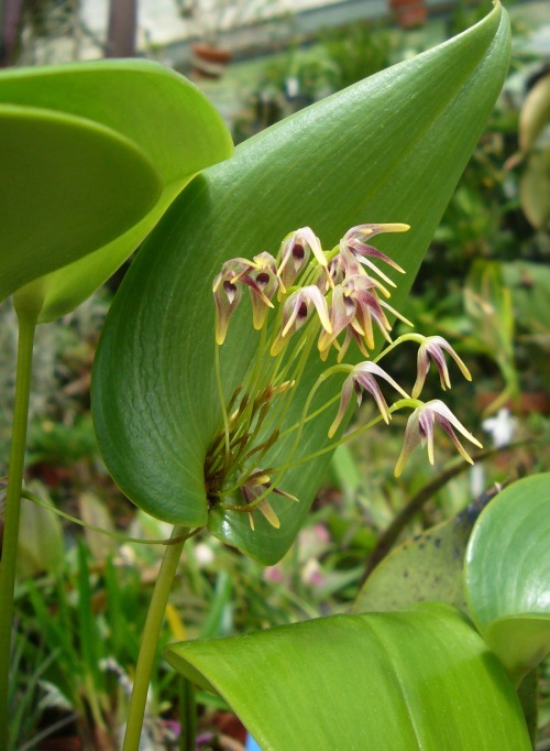
[[[451,438],[462,458],[470,464],[473,464],[472,457],[458,439],[454,429],[461,433],[464,438],[468,438],[468,440],[473,443],[474,446],[477,446],[479,448],[483,448],[483,446],[466,431],[462,423],[457,420],[451,410],[443,404],[441,400],[433,399],[417,407],[408,418],[407,427],[405,428],[405,442],[395,466],[396,477],[399,477],[403,472],[405,462],[418,444],[427,445],[428,459],[431,465],[433,464],[433,425],[436,423],[440,425]]]

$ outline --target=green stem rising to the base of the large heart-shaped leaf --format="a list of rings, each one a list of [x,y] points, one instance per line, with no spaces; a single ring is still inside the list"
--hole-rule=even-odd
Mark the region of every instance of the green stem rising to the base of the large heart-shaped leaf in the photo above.
[[[148,606],[147,619],[142,633],[140,654],[135,666],[134,685],[128,710],[127,730],[122,751],[139,751],[140,738],[145,716],[151,673],[155,661],[156,645],[161,633],[161,627],[172,591],[172,585],[176,575],[177,565],[184,549],[188,530],[175,526],[170,540],[179,538],[176,544],[167,545],[164,552],[163,563]]]

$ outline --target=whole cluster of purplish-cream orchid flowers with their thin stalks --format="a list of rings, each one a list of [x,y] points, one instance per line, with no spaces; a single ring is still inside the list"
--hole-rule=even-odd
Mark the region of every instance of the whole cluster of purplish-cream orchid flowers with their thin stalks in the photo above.
[[[363,392],[367,392],[380,413],[373,422],[384,420],[388,423],[396,410],[413,409],[395,468],[396,476],[402,474],[407,458],[419,444],[427,445],[428,458],[433,464],[436,424],[449,435],[460,455],[472,462],[457,433],[481,447],[474,436],[441,400],[426,403],[418,400],[431,361],[439,371],[443,390],[451,385],[446,352],[464,378],[471,380],[466,366],[442,337],[410,333],[393,340],[389,334],[392,325],[387,314],[407,325],[411,324],[387,303],[391,296],[388,287],[396,285],[376,262],[385,263],[400,273],[404,270],[370,244],[370,240],[381,232],[403,232],[408,229],[408,225],[403,224],[360,225],[352,227],[336,248],[324,251],[319,238],[309,227],[305,227],[290,232],[283,240],[276,258],[262,252],[252,260],[234,258],[223,264],[212,286],[217,377],[223,412],[223,428],[212,442],[205,464],[207,490],[212,504],[219,502],[226,509],[246,511],[252,529],[255,509],[273,526],[279,526],[267,496],[273,492],[295,501],[297,499],[275,487],[285,468],[262,468],[261,461],[279,436],[289,432],[295,432],[297,446],[306,422],[312,416],[309,407],[316,392],[328,378],[338,373],[345,373],[346,378],[341,389],[338,412],[328,431],[329,438],[341,427],[353,396],[361,405]],[[261,333],[260,344],[245,382],[226,405],[219,348],[226,340],[230,319],[245,290],[252,304],[253,326]],[[298,331],[300,336],[296,336]],[[375,349],[376,331],[386,341],[386,347],[377,357],[354,366],[343,362],[352,342],[369,358]],[[410,394],[378,364],[391,350],[405,341],[419,344],[417,378]],[[301,421],[282,433],[296,383],[315,346],[323,361],[334,348],[337,364],[328,368],[311,389]],[[380,379],[385,380],[400,396],[391,406],[381,390]],[[315,415],[330,407],[334,401],[330,400]],[[274,472],[277,478],[272,480]],[[241,492],[243,504],[222,502],[224,496],[237,491]]]

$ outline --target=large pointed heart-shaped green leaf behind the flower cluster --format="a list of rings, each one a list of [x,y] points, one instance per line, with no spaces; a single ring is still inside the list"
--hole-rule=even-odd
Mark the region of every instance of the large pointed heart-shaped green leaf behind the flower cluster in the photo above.
[[[275,252],[287,232],[302,226],[331,248],[353,225],[403,221],[410,232],[378,243],[408,271],[398,306],[499,92],[508,55],[508,22],[497,6],[449,43],[270,128],[187,186],[132,265],[95,368],[101,449],[138,505],[174,523],[208,523],[263,563],[288,549],[328,455],[283,477],[280,487],[300,502],[277,497],[279,530],[257,519],[252,532],[246,514],[216,507],[209,512],[204,464],[221,426],[212,280],[224,260]],[[244,311],[223,346],[227,399],[242,382],[256,342]],[[321,368],[311,359],[289,424]],[[333,416],[306,425],[294,459],[324,446]],[[287,460],[293,440],[278,440],[265,462]]]

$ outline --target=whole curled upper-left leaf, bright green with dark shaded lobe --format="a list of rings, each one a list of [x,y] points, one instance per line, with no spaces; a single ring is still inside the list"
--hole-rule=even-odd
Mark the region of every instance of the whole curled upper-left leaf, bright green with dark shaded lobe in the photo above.
[[[23,315],[40,306],[40,322],[67,313],[91,294],[140,244],[186,183],[232,151],[229,132],[205,96],[156,63],[102,61],[7,70],[0,76],[2,105],[8,112],[14,107],[37,109],[37,122],[55,116],[62,130],[76,119],[85,132],[102,129],[116,139],[113,149],[123,142],[136,152],[134,161],[140,156],[153,173],[154,196],[128,172],[123,153],[111,159],[82,144],[75,161],[70,142],[63,150],[61,131],[53,150],[41,132],[20,130],[15,123],[10,130],[14,145],[2,135],[10,161],[6,164],[2,155],[0,191],[11,200],[2,202],[0,216],[11,235],[0,260],[0,298],[46,274],[18,300]],[[101,168],[98,186],[88,185]],[[37,176],[45,182],[36,183]],[[12,193],[14,184],[29,191],[26,202]],[[101,232],[107,222],[111,231]],[[32,236],[22,231],[29,227],[34,228]]]

